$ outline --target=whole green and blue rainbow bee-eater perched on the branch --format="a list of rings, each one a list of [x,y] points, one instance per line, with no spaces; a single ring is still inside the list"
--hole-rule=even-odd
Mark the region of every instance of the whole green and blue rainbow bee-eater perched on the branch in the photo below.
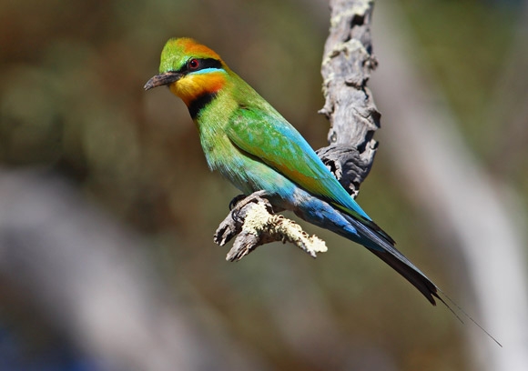
[[[367,247],[433,305],[435,297],[442,300],[438,287],[394,247],[302,135],[217,53],[190,38],[168,40],[159,75],[145,89],[160,85],[188,106],[211,170],[245,195],[264,191],[273,206]]]

